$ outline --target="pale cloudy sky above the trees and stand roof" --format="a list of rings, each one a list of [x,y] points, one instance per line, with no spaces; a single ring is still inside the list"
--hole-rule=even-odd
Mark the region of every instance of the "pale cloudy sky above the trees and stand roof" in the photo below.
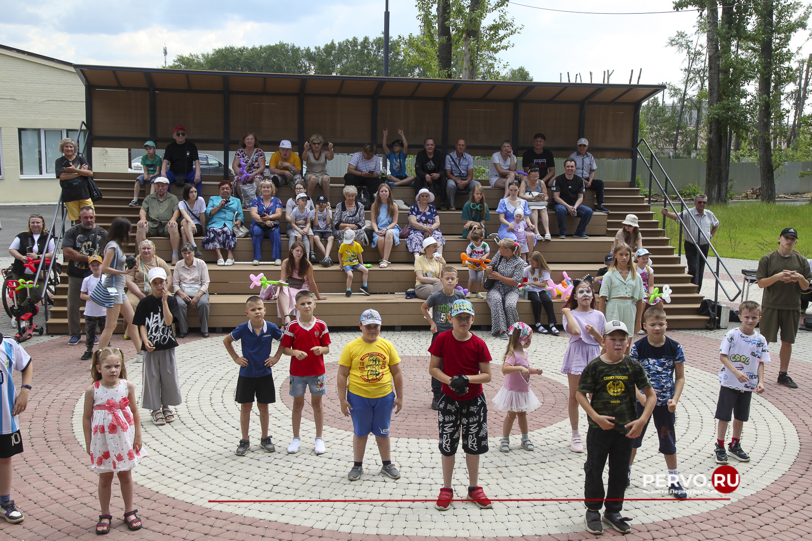
[[[678,30],[693,31],[696,11],[675,13],[672,0],[516,0],[508,11],[524,28],[515,46],[501,54],[511,67],[524,66],[536,81],[628,83],[634,70],[641,84],[676,82],[683,58],[667,48]],[[519,4],[525,4],[521,6]],[[304,6],[305,9],[296,9]],[[527,6],[581,11],[543,11]],[[164,45],[176,54],[203,53],[223,45],[324,45],[352,36],[376,36],[383,29],[384,0],[330,0],[299,5],[278,0],[253,2],[132,2],[0,0],[0,44],[78,64],[159,67]],[[588,15],[585,11],[668,11],[661,15]],[[419,31],[413,2],[390,2],[391,36]],[[808,35],[799,36],[801,45]],[[812,52],[807,42],[804,54]],[[563,74],[563,75],[561,75]]]

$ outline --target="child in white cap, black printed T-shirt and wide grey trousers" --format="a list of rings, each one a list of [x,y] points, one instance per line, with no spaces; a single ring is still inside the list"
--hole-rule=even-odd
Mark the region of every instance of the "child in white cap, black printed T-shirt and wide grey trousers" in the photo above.
[[[144,350],[141,407],[150,410],[153,423],[160,426],[175,420],[169,406],[178,406],[183,401],[175,363],[178,341],[172,332],[172,323],[179,319],[180,311],[178,300],[166,287],[166,271],[151,268],[148,277],[151,294],[139,301],[132,324],[138,326]]]

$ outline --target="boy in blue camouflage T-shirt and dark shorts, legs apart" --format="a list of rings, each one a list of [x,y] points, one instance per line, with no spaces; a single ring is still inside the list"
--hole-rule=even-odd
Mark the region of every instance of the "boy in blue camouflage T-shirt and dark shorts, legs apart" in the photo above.
[[[636,341],[628,356],[637,360],[646,370],[646,376],[657,393],[657,403],[651,416],[654,418],[654,427],[659,438],[659,452],[665,455],[668,466],[668,492],[680,500],[688,497],[685,488],[680,485],[680,471],[676,467],[676,437],[674,424],[676,423],[676,403],[680,401],[682,388],[685,386],[685,354],[680,343],[665,335],[668,322],[665,311],[661,307],[650,307],[643,314],[643,328],[647,336]],[[646,404],[646,395],[637,389],[637,414],[643,411]],[[634,455],[646,436],[646,426],[643,432],[634,440],[632,460],[628,466],[628,483],[632,482],[632,464]]]

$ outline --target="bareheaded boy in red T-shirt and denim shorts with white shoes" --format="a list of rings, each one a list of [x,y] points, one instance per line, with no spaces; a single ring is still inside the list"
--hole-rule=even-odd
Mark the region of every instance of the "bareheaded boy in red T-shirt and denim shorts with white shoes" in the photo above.
[[[310,404],[316,423],[316,454],[326,452],[322,440],[324,408],[322,397],[327,393],[324,356],[330,353],[330,333],[327,324],[313,317],[316,296],[308,290],[296,294],[296,310],[299,317],[287,325],[282,337],[282,352],[291,356],[291,387],[293,397],[293,440],[287,446],[288,453],[299,450],[299,426],[304,408],[304,392],[310,388]]]

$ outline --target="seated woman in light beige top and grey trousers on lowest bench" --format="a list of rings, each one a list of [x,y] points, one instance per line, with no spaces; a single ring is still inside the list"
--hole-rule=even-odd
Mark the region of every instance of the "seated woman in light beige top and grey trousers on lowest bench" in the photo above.
[[[195,247],[186,243],[180,247],[180,255],[184,258],[175,264],[172,273],[172,290],[178,301],[178,337],[183,338],[189,333],[189,320],[186,316],[187,307],[197,310],[197,320],[201,324],[201,335],[209,337],[209,267],[203,260],[195,257]]]

